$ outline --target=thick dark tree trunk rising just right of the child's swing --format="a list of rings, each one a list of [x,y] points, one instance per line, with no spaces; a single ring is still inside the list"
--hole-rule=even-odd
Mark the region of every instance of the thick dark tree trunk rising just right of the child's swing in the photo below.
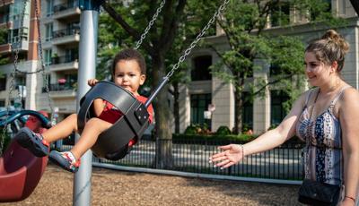
[[[165,67],[162,56],[153,56],[153,88],[158,86],[164,76]],[[167,98],[168,85],[158,93],[153,103],[156,128],[156,157],[155,167],[169,169],[173,166],[171,109]]]

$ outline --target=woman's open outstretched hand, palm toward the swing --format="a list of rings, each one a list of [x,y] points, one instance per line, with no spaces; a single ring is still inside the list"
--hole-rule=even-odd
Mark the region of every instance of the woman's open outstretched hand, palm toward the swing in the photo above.
[[[231,167],[234,164],[237,164],[241,159],[244,158],[244,149],[243,145],[240,144],[229,144],[219,147],[219,149],[224,150],[220,153],[213,155],[209,158],[209,162],[215,163],[215,167]],[[216,163],[218,162],[218,163]]]

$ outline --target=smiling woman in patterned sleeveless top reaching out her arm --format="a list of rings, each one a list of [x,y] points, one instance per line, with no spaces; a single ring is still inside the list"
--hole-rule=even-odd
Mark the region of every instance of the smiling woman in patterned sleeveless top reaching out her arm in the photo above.
[[[305,73],[314,89],[297,99],[276,129],[256,140],[220,147],[213,155],[215,167],[231,167],[245,156],[271,150],[294,134],[307,142],[305,178],[329,185],[343,185],[340,205],[358,203],[359,190],[359,93],[342,78],[348,43],[335,30],[305,49]]]

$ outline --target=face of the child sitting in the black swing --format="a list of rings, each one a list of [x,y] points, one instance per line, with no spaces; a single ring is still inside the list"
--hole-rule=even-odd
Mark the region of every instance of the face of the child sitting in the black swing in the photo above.
[[[145,75],[136,60],[120,60],[116,64],[114,83],[137,94],[138,88],[144,84]]]

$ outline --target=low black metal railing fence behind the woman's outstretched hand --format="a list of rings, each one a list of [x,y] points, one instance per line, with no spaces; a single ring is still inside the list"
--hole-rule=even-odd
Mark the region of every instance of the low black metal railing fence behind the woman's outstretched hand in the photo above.
[[[302,143],[285,143],[274,150],[250,155],[240,164],[223,170],[213,167],[208,163],[208,158],[218,152],[218,145],[227,143],[176,140],[172,142],[171,170],[221,176],[302,180]],[[111,161],[93,158],[92,161],[117,166],[156,168],[155,148],[156,142],[142,140],[125,159]]]

